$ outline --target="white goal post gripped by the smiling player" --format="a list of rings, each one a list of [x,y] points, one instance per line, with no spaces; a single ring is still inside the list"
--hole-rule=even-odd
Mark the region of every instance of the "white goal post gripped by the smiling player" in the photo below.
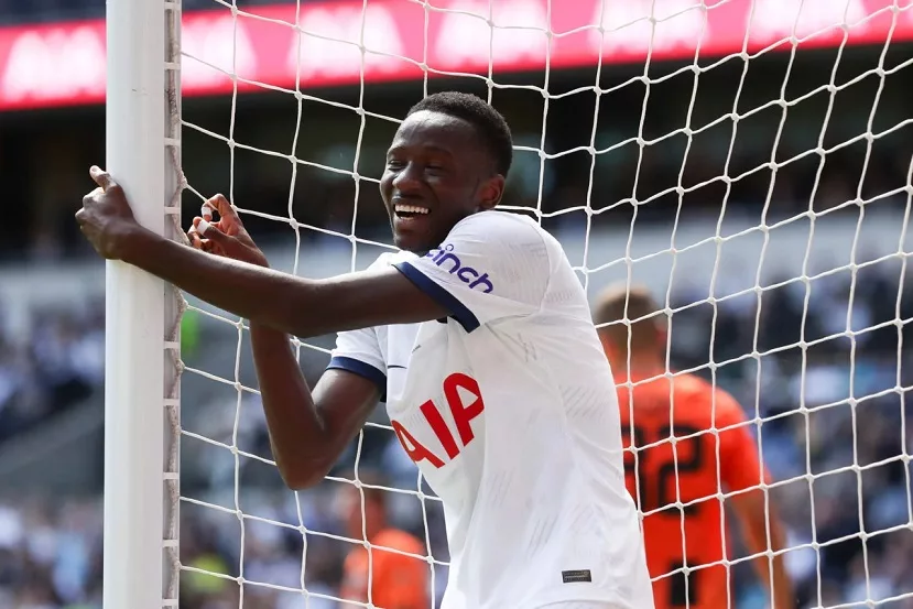
[[[164,7],[164,9],[163,9]],[[178,2],[107,3],[106,167],[176,238]],[[106,267],[104,607],[177,607],[177,322],[170,285]]]

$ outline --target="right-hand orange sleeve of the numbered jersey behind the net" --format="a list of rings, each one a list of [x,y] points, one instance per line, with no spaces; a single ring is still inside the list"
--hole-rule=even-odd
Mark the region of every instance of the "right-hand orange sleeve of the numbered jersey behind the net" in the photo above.
[[[728,491],[757,488],[767,481],[758,442],[749,431],[742,407],[731,395],[717,392],[720,478]]]

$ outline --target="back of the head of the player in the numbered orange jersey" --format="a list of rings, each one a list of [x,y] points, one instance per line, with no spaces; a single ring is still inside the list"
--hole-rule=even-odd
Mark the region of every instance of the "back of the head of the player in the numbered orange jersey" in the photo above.
[[[593,308],[593,322],[602,349],[615,369],[662,362],[665,354],[665,316],[642,285],[610,285]],[[627,322],[626,322],[627,320]]]

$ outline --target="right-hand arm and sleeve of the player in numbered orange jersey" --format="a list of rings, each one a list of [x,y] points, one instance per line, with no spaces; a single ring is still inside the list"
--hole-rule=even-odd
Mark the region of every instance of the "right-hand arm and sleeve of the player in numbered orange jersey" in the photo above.
[[[752,561],[761,584],[768,588],[773,580],[772,609],[792,609],[795,595],[784,556],[778,554],[773,559],[765,556],[768,552],[785,548],[786,534],[774,501],[761,488],[769,478],[758,454],[758,443],[748,431],[738,402],[724,392],[717,395],[720,478],[727,491],[736,493],[728,501],[736,511],[748,551],[761,556]]]

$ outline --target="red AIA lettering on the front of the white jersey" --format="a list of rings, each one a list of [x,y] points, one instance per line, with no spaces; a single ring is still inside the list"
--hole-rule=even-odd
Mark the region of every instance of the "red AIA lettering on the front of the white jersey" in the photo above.
[[[464,390],[463,395],[466,396],[466,400],[460,395],[460,389]],[[433,401],[428,400],[419,410],[424,415],[434,435],[437,436],[438,442],[441,442],[441,446],[446,453],[446,458],[453,460],[475,437],[470,422],[485,411],[485,402],[482,401],[482,394],[476,379],[461,372],[454,372],[444,379],[444,398],[447,400],[447,406],[450,410],[450,415],[454,417],[454,426],[456,427],[456,433],[459,436],[459,442],[463,447],[457,445],[454,434],[450,432],[450,428],[441,415],[441,411],[437,410],[437,405]],[[444,457],[435,454],[427,446],[415,439],[415,436],[409,433],[399,421],[391,421],[390,424],[393,426],[400,444],[403,445],[403,448],[413,461],[417,464],[419,461],[426,460],[435,468],[444,466]]]

